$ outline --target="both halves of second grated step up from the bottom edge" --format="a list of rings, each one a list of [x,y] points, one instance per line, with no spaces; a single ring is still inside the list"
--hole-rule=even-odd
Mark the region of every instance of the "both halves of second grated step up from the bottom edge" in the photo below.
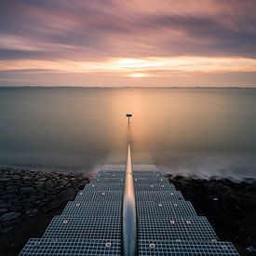
[[[188,219],[139,219],[139,239],[151,240],[206,240],[218,237],[205,217]],[[121,238],[121,218],[87,218],[56,216],[47,227],[43,238]]]

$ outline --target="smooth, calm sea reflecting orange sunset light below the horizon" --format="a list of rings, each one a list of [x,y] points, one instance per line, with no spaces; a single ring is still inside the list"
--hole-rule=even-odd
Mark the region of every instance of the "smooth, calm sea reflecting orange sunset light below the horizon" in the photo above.
[[[256,89],[0,88],[0,166],[256,178]]]

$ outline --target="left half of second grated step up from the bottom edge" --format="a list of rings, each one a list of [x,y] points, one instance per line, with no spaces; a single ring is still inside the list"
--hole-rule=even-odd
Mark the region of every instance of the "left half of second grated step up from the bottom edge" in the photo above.
[[[56,216],[43,237],[121,239],[121,218]]]

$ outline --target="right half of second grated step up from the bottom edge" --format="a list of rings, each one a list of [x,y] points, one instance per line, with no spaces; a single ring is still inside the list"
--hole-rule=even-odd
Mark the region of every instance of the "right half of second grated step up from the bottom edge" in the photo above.
[[[138,220],[139,239],[174,241],[217,241],[206,217],[154,218]]]

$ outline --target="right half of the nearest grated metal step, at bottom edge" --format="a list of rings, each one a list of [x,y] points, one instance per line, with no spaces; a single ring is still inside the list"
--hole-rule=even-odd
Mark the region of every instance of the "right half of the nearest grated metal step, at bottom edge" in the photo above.
[[[238,256],[235,247],[229,242],[170,242],[170,241],[139,241],[139,255],[210,255],[210,256]]]

